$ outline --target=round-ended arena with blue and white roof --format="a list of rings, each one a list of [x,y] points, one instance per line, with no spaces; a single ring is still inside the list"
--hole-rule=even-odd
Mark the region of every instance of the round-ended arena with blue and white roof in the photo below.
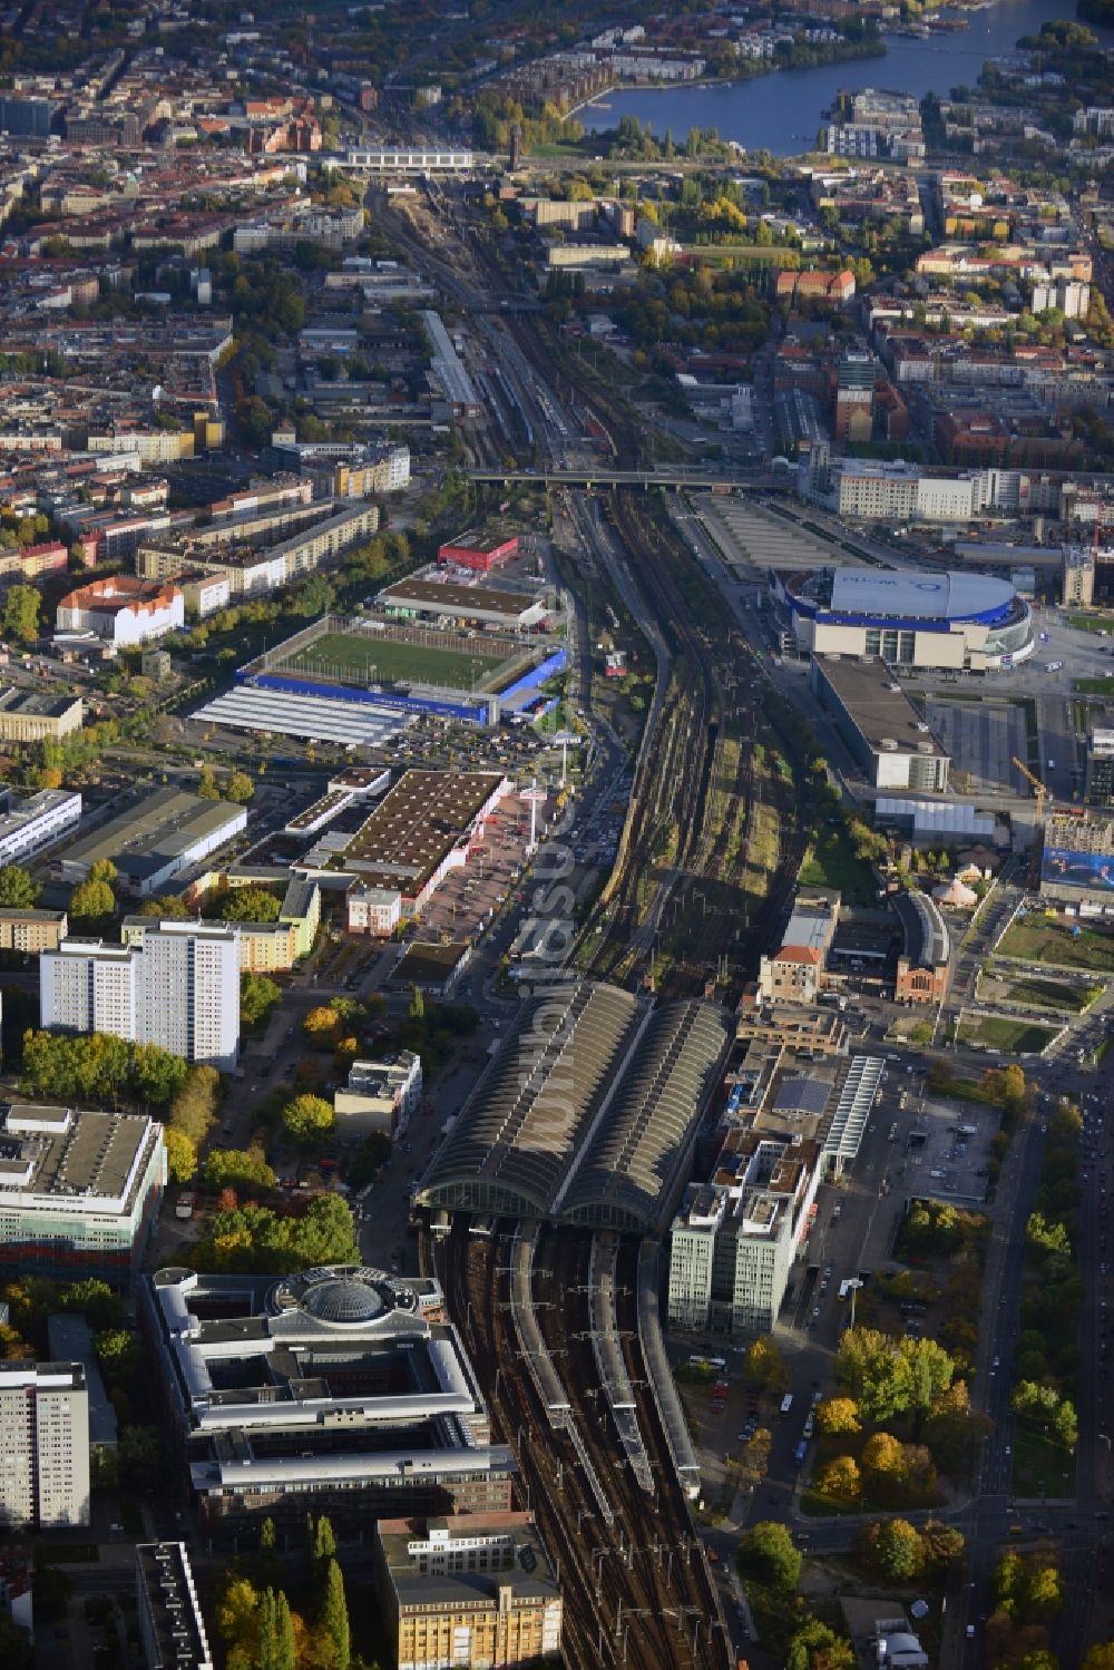
[[[877,655],[897,666],[974,673],[1032,655],[1029,605],[987,574],[823,568],[770,571],[768,588],[798,655]]]

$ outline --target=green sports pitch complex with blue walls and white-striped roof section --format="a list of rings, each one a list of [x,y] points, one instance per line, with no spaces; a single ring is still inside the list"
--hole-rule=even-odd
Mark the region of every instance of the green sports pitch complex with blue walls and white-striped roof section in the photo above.
[[[377,746],[419,713],[491,726],[541,711],[541,686],[566,661],[544,638],[326,615],[237,668],[235,686],[194,718]]]

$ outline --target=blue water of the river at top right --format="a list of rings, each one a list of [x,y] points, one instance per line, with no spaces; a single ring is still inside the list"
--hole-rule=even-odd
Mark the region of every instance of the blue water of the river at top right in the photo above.
[[[793,157],[812,150],[823,112],[842,87],[848,92],[882,87],[917,99],[932,92],[947,97],[952,87],[974,85],[987,58],[1014,52],[1019,37],[1037,35],[1042,23],[1072,18],[1076,7],[1074,0],[1000,0],[985,12],[965,15],[970,28],[949,35],[934,33],[927,40],[885,35],[884,58],[775,70],[713,87],[640,87],[608,94],[576,115],[591,132],[616,127],[623,115],[636,115],[655,134],[668,130],[676,140],[691,127],[715,127],[722,139],[733,139],[748,150],[765,147],[777,157]],[[1094,32],[1106,45],[1114,45],[1114,30]]]

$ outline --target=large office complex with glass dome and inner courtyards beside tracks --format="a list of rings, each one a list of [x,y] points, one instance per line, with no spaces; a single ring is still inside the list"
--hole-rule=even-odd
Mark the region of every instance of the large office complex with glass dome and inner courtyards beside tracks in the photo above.
[[[389,1513],[511,1505],[514,1461],[431,1278],[331,1266],[286,1276],[162,1269],[140,1324],[207,1535],[307,1513],[362,1531]]]

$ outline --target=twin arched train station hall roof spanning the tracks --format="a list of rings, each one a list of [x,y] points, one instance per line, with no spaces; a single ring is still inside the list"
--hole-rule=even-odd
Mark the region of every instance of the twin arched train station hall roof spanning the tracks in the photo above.
[[[418,1202],[656,1229],[728,1042],[713,1004],[655,1010],[588,980],[523,1007]]]

